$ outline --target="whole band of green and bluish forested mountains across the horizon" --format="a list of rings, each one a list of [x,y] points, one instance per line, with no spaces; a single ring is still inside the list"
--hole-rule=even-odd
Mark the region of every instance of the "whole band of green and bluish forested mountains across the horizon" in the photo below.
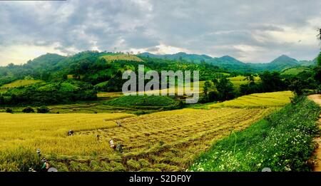
[[[117,63],[106,61],[101,56],[115,56],[120,53],[106,53],[98,51],[84,51],[73,56],[59,56],[54,53],[47,53],[39,56],[24,65],[9,64],[0,67],[0,85],[10,83],[16,79],[23,79],[31,76],[35,79],[49,81],[55,78],[63,78],[68,75],[82,77],[84,81],[93,85],[108,81],[118,73],[128,69],[135,70],[138,61],[131,61],[126,58],[117,60]],[[121,54],[124,56],[124,54]],[[210,76],[212,72],[237,72],[237,73],[258,73],[262,71],[282,71],[295,66],[313,66],[313,61],[297,61],[294,58],[282,55],[270,63],[244,63],[231,56],[212,58],[206,55],[175,53],[166,55],[155,55],[152,53],[141,53],[137,55],[142,58],[143,64],[156,71],[165,70],[202,70],[201,79]],[[125,60],[126,59],[126,60]],[[183,65],[184,64],[184,65]]]

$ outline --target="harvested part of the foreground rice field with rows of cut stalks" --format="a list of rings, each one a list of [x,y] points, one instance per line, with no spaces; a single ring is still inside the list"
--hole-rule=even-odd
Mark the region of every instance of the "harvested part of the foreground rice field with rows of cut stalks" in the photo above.
[[[271,111],[237,108],[171,110],[125,118],[121,120],[122,127],[81,131],[77,135],[99,135],[103,142],[113,138],[115,143],[123,145],[123,154],[99,155],[96,159],[110,163],[109,171],[116,168],[112,166],[116,162],[121,163],[118,169],[127,171],[181,171],[215,140],[229,135],[232,130],[243,130]],[[75,159],[74,162],[79,161]],[[90,167],[89,161],[82,164]]]

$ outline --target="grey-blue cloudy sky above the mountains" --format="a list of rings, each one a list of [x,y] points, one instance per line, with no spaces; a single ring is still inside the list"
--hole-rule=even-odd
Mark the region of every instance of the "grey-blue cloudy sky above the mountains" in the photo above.
[[[310,60],[320,10],[319,0],[0,1],[0,66],[86,50]]]

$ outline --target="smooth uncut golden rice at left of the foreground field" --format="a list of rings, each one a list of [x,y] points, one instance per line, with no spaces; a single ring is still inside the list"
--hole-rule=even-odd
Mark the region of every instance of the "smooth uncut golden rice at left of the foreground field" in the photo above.
[[[113,120],[128,117],[133,117],[133,115],[127,113],[0,113],[0,151],[23,146],[41,148],[48,154],[91,155],[93,152],[99,153],[103,148],[100,145],[91,144],[95,140],[93,136],[66,138],[68,130],[77,132],[112,128],[116,125]]]

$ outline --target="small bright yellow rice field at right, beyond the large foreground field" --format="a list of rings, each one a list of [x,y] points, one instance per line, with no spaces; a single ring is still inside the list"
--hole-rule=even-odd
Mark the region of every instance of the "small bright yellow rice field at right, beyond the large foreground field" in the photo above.
[[[280,91],[273,93],[253,93],[244,95],[234,100],[227,100],[222,103],[213,103],[208,108],[268,108],[280,107],[290,103],[293,96],[291,91]]]

